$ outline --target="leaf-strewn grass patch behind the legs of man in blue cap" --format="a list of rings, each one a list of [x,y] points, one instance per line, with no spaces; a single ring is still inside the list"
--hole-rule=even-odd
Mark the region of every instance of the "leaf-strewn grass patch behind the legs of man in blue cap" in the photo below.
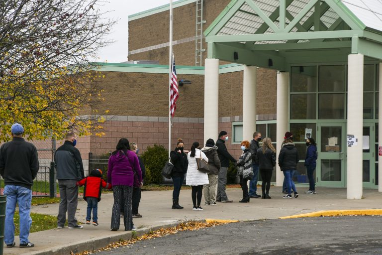
[[[48,229],[54,229],[57,226],[57,217],[50,215],[43,215],[38,213],[30,213],[30,217],[32,218],[32,226],[30,227],[30,233],[38,232]],[[20,226],[19,226],[19,215],[16,210],[14,213],[14,234],[18,236],[20,234]]]

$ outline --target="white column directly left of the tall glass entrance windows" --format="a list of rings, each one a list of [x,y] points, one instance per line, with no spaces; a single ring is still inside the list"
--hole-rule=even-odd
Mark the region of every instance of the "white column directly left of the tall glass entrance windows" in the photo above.
[[[288,86],[289,86],[289,73],[277,74],[277,146],[276,156],[279,156],[281,144],[284,141],[285,132],[288,131]],[[280,171],[280,166],[276,164],[276,186],[283,186],[284,174]]]

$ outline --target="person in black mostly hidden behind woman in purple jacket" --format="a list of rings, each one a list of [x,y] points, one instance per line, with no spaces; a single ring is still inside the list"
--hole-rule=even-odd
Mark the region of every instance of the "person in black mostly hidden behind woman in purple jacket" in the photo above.
[[[142,180],[145,178],[146,167],[143,162],[143,159],[138,156],[139,148],[135,142],[130,143],[130,149],[137,154],[139,160],[139,166],[142,171]],[[134,174],[134,186],[133,186],[133,194],[131,198],[131,211],[133,213],[133,218],[142,218],[142,215],[138,213],[139,203],[141,202],[141,184],[138,180],[138,175]],[[122,207],[121,207],[122,208]]]

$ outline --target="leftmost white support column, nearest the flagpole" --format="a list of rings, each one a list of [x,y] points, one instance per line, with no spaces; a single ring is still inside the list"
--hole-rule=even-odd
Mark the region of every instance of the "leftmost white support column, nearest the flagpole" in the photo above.
[[[219,60],[205,59],[204,68],[204,140],[209,138],[216,140],[219,117]]]

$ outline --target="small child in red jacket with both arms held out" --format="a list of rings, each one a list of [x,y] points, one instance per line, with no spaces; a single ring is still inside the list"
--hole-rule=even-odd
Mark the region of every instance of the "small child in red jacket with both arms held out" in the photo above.
[[[111,184],[106,183],[102,179],[102,171],[100,169],[93,169],[88,177],[77,182],[78,186],[84,186],[84,199],[88,202],[86,224],[90,224],[92,209],[93,209],[93,222],[94,226],[98,226],[97,210],[98,202],[101,200],[102,187],[111,189]]]

